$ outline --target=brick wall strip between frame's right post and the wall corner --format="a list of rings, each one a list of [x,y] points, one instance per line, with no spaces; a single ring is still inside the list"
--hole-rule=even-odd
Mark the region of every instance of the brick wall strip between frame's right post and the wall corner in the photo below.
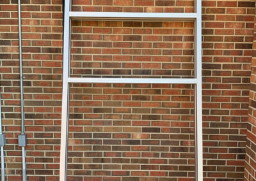
[[[203,1],[204,176],[243,180],[255,1]]]

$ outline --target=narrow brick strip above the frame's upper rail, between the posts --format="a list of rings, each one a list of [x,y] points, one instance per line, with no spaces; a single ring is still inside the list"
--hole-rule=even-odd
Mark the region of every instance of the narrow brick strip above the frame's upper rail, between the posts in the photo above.
[[[168,0],[73,0],[72,11],[192,13],[194,1]]]

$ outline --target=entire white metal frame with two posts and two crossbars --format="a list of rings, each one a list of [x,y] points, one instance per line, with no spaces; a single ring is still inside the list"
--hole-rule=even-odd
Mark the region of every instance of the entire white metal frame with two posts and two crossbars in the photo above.
[[[196,13],[75,12],[65,0],[63,36],[63,93],[61,113],[60,181],[67,180],[69,83],[184,83],[195,85],[195,180],[203,180],[202,148],[202,4],[195,0]],[[195,20],[195,78],[70,78],[71,19]]]

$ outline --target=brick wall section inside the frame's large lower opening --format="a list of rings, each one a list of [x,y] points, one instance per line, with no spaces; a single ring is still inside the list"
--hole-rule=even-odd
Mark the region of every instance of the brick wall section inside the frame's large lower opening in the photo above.
[[[68,179],[193,178],[193,94],[177,84],[71,86]]]

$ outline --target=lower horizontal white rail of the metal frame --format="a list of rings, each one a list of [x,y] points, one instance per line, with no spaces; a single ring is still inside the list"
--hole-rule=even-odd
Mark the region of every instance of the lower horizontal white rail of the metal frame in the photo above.
[[[68,83],[179,83],[196,84],[196,78],[67,78]]]

